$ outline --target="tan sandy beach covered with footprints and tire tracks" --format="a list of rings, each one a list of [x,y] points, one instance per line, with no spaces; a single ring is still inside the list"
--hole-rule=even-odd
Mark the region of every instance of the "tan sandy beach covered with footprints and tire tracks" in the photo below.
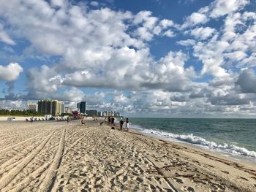
[[[256,166],[99,121],[0,122],[0,191],[256,191]]]

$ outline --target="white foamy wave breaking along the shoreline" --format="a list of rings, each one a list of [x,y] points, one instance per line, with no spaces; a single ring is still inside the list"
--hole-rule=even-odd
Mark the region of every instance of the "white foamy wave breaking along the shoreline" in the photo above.
[[[137,129],[137,128],[136,128]],[[195,145],[200,145],[211,150],[221,150],[223,152],[231,153],[232,155],[244,155],[252,158],[256,158],[256,152],[247,150],[244,147],[238,147],[236,145],[229,145],[227,143],[218,144],[216,142],[210,142],[202,137],[194,136],[193,134],[172,134],[164,131],[157,131],[153,129],[139,128],[140,132],[145,134],[153,134],[158,137],[165,137],[166,139],[176,139],[182,142],[188,142]]]

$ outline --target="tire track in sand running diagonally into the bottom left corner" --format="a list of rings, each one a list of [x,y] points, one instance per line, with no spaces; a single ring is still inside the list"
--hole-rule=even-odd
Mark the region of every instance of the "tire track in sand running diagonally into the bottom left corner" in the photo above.
[[[40,150],[42,150],[43,147],[45,147],[45,144],[49,141],[50,137],[53,136],[54,132],[56,130],[52,131],[48,137],[46,137],[42,143],[35,148],[29,155],[26,156],[26,158],[24,158],[24,160],[22,162],[20,162],[20,164],[18,164],[17,166],[15,166],[15,168],[11,169],[10,172],[8,172],[7,174],[5,174],[3,177],[1,177],[0,179],[0,191],[2,188],[4,188],[6,185],[8,185],[8,183],[10,183],[10,181],[27,165],[29,164],[29,162],[40,152]],[[38,135],[37,135],[38,136]]]

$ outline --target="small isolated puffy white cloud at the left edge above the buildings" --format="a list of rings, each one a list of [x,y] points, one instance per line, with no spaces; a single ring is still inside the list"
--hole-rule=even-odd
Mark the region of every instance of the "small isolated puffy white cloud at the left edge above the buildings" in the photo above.
[[[0,80],[16,80],[21,72],[23,72],[23,68],[18,63],[10,63],[7,66],[0,65]]]

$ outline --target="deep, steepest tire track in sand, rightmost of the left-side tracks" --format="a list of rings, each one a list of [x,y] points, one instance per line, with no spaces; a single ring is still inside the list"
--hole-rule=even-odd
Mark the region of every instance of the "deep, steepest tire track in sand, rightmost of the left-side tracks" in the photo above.
[[[59,165],[61,164],[61,158],[65,145],[65,135],[66,128],[64,128],[64,130],[62,131],[58,151],[53,159],[53,164],[50,165],[50,169],[48,170],[48,173],[46,174],[45,180],[43,181],[39,191],[50,191],[50,189],[53,187],[57,172],[56,169],[58,169]]]

